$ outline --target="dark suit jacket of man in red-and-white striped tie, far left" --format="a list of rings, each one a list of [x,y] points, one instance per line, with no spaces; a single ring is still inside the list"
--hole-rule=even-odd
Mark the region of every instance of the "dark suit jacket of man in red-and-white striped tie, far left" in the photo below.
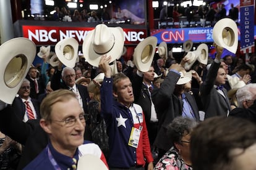
[[[31,101],[35,108],[37,119],[40,119],[40,103],[36,99],[31,99]],[[15,97],[14,102],[12,102],[12,107],[14,108],[17,117],[23,120],[26,111],[26,106],[22,102],[22,99],[20,97]]]

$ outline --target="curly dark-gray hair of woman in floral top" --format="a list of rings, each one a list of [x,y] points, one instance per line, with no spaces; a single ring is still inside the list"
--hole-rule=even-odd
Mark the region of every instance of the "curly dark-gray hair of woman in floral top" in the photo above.
[[[167,136],[173,145],[174,143],[181,143],[184,133],[189,134],[195,126],[197,126],[197,122],[194,119],[178,116],[168,125]]]

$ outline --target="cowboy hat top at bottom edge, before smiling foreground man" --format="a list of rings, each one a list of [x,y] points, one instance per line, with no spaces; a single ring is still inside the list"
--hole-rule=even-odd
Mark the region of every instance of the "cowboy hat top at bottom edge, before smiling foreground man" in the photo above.
[[[79,161],[77,162],[77,170],[84,170],[84,169],[108,170],[108,167],[97,156],[91,155],[91,154],[86,154],[86,155],[81,156],[79,158]]]

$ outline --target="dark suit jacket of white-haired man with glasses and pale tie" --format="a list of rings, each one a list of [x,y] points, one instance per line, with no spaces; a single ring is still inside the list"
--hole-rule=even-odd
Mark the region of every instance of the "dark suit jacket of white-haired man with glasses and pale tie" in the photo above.
[[[79,94],[82,97],[83,101],[83,110],[85,111],[85,114],[88,114],[88,102],[90,101],[90,97],[87,91],[87,87],[82,86],[80,84],[76,84],[77,89],[79,90]],[[55,71],[53,77],[51,78],[51,89],[54,91],[58,89],[69,89],[67,85],[61,81],[61,71],[57,70]]]

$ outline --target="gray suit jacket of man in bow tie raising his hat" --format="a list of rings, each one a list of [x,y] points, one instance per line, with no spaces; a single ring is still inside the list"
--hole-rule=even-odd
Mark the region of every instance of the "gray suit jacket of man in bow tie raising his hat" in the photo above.
[[[208,70],[207,78],[200,86],[201,100],[205,110],[205,118],[224,115],[227,116],[230,109],[230,103],[226,89],[223,88],[223,93],[226,99],[215,88],[215,79],[218,74],[220,63],[213,62]]]

